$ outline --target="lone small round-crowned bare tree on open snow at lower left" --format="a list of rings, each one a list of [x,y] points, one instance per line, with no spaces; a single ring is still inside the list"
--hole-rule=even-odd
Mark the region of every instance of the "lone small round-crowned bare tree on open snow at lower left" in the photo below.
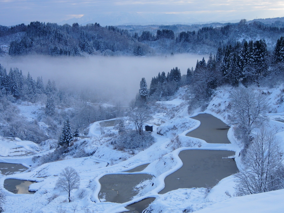
[[[70,200],[70,192],[73,189],[78,189],[80,185],[80,176],[76,172],[75,169],[73,169],[71,166],[67,166],[65,169],[62,170],[60,173],[60,177],[58,178],[56,182],[56,186],[58,188],[61,188],[63,191],[68,192],[68,199]]]

